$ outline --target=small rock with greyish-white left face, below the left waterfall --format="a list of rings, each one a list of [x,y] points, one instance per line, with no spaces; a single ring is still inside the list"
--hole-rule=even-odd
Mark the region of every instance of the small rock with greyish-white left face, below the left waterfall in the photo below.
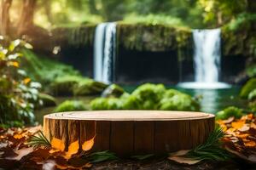
[[[102,92],[103,98],[119,97],[125,93],[124,88],[119,87],[117,84],[111,84]]]

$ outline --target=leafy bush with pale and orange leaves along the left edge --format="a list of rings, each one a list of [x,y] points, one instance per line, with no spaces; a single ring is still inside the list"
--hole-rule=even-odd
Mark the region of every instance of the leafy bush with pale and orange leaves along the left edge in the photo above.
[[[0,123],[7,126],[32,124],[41,84],[32,82],[26,71],[20,69],[21,49],[32,46],[19,39],[12,42],[0,39]]]

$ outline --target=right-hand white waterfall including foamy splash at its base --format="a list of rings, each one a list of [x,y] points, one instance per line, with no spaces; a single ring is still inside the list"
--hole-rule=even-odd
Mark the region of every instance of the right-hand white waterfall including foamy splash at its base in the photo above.
[[[195,82],[182,82],[182,88],[230,88],[229,84],[218,82],[220,72],[220,29],[194,30]]]

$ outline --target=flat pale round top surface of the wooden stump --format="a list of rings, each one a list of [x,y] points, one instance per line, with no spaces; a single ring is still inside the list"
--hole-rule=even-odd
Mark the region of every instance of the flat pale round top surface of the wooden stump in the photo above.
[[[175,121],[212,118],[209,113],[194,111],[71,111],[44,116],[46,119],[96,121]]]

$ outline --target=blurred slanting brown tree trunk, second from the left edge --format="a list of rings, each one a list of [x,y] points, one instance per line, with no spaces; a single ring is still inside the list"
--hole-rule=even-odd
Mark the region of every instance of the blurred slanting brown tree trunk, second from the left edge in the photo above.
[[[23,7],[17,26],[17,35],[19,37],[26,34],[26,31],[29,31],[33,26],[33,16],[36,3],[37,0],[23,0]]]

